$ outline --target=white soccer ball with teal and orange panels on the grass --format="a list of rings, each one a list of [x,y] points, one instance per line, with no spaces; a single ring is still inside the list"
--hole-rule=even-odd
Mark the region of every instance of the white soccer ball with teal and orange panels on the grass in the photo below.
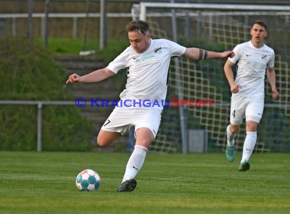
[[[78,173],[75,184],[80,191],[97,191],[101,185],[101,177],[94,170],[86,169]]]

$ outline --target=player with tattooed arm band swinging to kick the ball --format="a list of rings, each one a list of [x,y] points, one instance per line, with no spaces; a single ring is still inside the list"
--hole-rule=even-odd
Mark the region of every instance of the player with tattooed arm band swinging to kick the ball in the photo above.
[[[122,100],[132,100],[127,106],[115,106],[103,124],[98,138],[99,146],[106,146],[135,127],[136,144],[132,152],[118,192],[131,192],[137,182],[148,146],[155,139],[160,125],[163,107],[134,105],[142,100],[165,100],[167,75],[171,57],[186,56],[191,60],[233,57],[233,51],[213,52],[199,48],[186,48],[166,39],[151,39],[149,25],[145,21],[131,21],[126,26],[130,46],[105,68],[84,76],[72,74],[67,83],[99,82],[127,68],[126,89],[120,94]]]

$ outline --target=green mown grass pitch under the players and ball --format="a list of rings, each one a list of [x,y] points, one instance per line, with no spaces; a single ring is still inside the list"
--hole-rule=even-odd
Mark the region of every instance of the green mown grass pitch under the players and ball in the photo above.
[[[290,154],[254,153],[239,172],[241,154],[147,154],[137,188],[118,193],[130,154],[0,152],[0,213],[290,213]],[[97,171],[97,192],[75,178]]]

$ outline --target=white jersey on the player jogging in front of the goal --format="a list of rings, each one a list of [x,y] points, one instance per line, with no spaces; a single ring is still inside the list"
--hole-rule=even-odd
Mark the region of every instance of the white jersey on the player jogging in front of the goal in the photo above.
[[[248,41],[238,44],[234,52],[235,57],[228,59],[234,64],[238,62],[235,79],[235,83],[241,86],[238,94],[245,97],[264,97],[265,72],[267,67],[274,67],[274,50],[266,44],[256,48]]]

